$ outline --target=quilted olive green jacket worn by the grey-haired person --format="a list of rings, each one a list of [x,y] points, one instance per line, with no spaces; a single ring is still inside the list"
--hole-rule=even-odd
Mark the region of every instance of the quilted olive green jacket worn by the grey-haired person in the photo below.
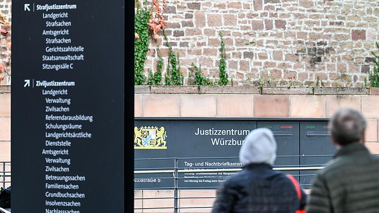
[[[360,143],[341,147],[314,179],[306,213],[379,213],[379,157]]]

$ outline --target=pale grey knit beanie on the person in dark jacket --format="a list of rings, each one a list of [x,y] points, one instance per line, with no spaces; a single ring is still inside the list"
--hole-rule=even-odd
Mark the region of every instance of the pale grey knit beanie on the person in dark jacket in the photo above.
[[[250,132],[239,150],[239,161],[243,166],[250,163],[273,165],[276,159],[276,141],[272,131],[259,128]]]

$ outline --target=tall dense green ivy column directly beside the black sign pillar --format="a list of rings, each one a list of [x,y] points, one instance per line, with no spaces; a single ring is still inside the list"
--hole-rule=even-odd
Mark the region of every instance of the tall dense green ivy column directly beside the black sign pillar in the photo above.
[[[135,1],[137,9],[134,15],[134,84],[145,84],[144,65],[149,48],[149,19],[151,11],[146,4],[141,6]]]

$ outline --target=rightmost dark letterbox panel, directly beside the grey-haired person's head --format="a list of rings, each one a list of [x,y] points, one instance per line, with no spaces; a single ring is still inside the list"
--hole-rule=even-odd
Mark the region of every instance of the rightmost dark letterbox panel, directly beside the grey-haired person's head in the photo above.
[[[333,155],[336,147],[329,139],[328,122],[301,122],[300,123],[300,164],[306,167],[324,166],[332,159],[332,156],[309,155]],[[310,184],[316,172],[303,171],[300,173],[300,184],[303,188],[310,188]]]

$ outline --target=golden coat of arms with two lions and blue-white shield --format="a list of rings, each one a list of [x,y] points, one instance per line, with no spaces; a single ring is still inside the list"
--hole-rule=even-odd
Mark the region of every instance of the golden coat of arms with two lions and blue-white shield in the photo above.
[[[164,127],[134,127],[135,149],[167,149]]]

